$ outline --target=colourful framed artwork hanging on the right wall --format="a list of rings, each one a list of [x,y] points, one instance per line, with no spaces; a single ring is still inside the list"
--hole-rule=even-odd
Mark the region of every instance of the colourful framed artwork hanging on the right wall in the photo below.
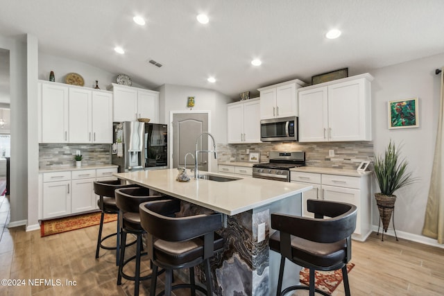
[[[388,128],[418,128],[418,98],[388,101]]]

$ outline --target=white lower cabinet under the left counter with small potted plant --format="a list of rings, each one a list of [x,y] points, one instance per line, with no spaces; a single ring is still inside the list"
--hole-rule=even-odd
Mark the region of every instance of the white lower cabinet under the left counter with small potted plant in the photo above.
[[[94,181],[116,180],[117,168],[42,173],[40,219],[69,216],[98,209]]]

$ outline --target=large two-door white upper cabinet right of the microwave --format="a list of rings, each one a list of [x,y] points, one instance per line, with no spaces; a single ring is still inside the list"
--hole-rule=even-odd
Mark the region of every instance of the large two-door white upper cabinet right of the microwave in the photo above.
[[[371,141],[372,80],[366,73],[300,89],[299,141]]]

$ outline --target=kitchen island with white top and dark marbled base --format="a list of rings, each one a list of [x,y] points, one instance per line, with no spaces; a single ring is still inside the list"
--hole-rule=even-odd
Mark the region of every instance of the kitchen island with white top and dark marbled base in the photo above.
[[[211,262],[216,295],[275,294],[280,257],[268,248],[270,214],[300,215],[300,193],[312,187],[250,177],[228,182],[195,180],[191,172],[187,173],[190,182],[176,181],[178,171],[174,168],[114,175],[179,198],[183,201],[183,214],[208,211],[225,214],[224,227],[219,232],[225,238],[224,251]],[[233,178],[220,173],[200,173]],[[287,272],[290,278],[284,284],[298,283],[297,272]]]

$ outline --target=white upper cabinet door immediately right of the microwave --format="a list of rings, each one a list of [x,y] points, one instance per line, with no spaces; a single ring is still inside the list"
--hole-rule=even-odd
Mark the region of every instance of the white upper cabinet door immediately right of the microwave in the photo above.
[[[327,87],[301,91],[298,101],[299,141],[328,141]]]

